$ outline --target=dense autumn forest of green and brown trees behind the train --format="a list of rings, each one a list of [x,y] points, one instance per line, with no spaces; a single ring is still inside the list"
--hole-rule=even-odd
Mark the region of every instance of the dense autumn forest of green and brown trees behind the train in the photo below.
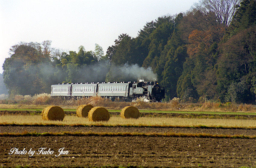
[[[186,13],[145,23],[94,51],[51,41],[19,43],[3,64],[9,96],[50,93],[52,84],[158,80],[166,101],[255,104],[256,1],[201,0]]]

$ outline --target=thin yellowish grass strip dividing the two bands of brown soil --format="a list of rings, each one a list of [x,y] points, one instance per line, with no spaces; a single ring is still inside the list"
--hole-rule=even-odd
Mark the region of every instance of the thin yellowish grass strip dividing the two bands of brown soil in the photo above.
[[[62,137],[62,136],[79,136],[79,137],[193,137],[193,138],[231,138],[231,139],[256,139],[256,136],[244,136],[244,135],[226,135],[226,134],[189,134],[189,133],[130,133],[130,132],[45,132],[45,133],[1,133],[0,137]]]

